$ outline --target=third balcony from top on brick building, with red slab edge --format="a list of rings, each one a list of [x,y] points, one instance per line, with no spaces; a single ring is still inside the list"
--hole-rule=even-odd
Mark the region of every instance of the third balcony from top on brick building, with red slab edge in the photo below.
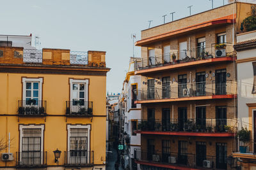
[[[138,120],[140,134],[173,136],[234,137],[236,120],[218,118],[193,118],[169,120]]]

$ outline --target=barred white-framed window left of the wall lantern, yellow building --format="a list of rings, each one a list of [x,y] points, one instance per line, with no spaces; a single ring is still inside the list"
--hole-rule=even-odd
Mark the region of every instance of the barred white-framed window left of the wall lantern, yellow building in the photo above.
[[[44,125],[20,125],[19,161],[22,165],[42,165],[44,163]]]

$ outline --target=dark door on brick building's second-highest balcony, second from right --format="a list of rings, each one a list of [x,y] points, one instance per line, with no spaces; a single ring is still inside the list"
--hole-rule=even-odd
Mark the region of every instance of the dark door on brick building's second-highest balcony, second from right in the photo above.
[[[205,95],[205,72],[196,73],[196,96]]]

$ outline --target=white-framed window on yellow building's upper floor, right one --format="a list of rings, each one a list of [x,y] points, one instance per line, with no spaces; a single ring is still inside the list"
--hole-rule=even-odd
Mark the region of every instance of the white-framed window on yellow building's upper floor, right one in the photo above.
[[[79,112],[81,108],[88,108],[89,80],[70,79],[70,111]]]

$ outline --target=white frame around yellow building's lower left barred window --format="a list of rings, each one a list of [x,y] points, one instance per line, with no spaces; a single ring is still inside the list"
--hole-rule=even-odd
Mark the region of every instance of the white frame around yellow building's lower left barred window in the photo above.
[[[24,136],[23,134],[23,129],[41,129],[41,162],[44,162],[44,125],[19,125],[19,131],[20,131],[20,160],[22,160],[22,137]]]

